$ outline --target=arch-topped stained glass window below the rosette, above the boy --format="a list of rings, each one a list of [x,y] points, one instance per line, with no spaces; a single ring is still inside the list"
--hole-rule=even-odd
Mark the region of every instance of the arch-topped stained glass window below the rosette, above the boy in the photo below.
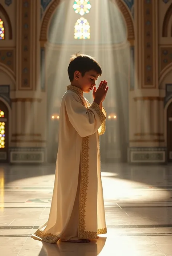
[[[75,39],[90,39],[90,25],[84,18],[80,18],[75,23]]]

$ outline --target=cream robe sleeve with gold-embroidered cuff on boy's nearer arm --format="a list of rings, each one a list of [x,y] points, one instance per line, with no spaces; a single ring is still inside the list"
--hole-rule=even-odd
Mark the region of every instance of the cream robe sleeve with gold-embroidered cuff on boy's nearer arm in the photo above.
[[[65,108],[71,125],[82,138],[94,134],[106,120],[97,103],[93,102],[86,108],[72,93],[66,94]]]

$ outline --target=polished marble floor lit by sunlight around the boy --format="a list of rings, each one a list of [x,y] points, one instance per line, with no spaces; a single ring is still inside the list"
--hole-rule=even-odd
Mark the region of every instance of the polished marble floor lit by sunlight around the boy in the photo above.
[[[172,166],[102,164],[106,235],[89,244],[42,243],[55,166],[0,166],[1,256],[172,256]]]

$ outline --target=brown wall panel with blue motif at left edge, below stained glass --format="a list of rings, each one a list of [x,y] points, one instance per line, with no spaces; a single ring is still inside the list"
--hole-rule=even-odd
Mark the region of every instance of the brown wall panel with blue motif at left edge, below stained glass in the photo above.
[[[14,61],[13,49],[0,50],[0,63],[7,65],[13,72],[15,72]]]

